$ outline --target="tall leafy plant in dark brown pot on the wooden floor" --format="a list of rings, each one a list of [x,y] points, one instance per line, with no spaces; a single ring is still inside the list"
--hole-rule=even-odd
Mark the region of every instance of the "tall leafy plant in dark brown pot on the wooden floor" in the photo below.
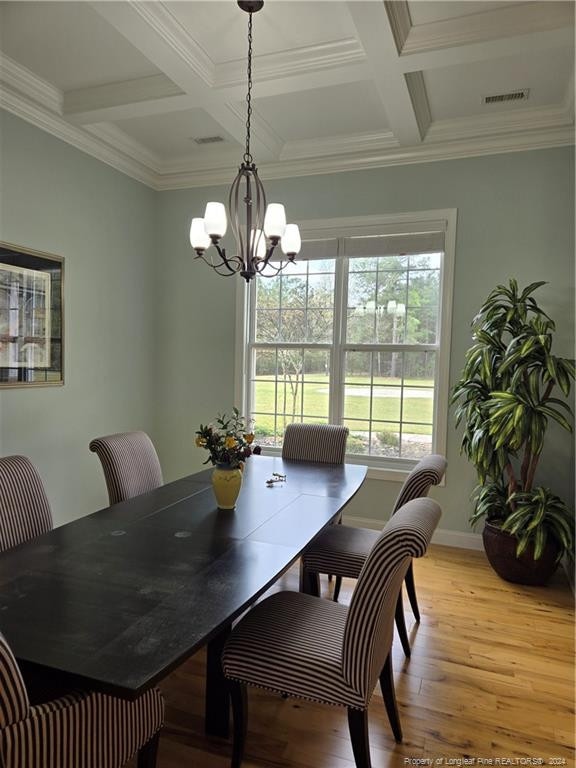
[[[472,321],[474,343],[452,392],[461,451],[474,465],[472,525],[494,570],[508,581],[543,584],[563,555],[574,557],[574,513],[549,488],[535,485],[552,419],[572,431],[565,398],[574,361],[552,353],[554,322],[538,306],[536,282],[519,291],[498,285]]]

